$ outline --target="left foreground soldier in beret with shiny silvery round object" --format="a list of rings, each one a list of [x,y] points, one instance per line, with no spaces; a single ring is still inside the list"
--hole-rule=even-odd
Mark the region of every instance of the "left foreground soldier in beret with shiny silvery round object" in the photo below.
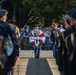
[[[0,43],[2,44],[2,47],[0,47],[0,65],[3,65],[2,75],[7,75],[9,71],[11,71],[12,67],[15,65],[16,58],[19,56],[17,42],[15,42],[16,35],[13,34],[10,25],[6,22],[7,14],[7,10],[0,9]],[[3,58],[6,60],[5,63],[2,63],[1,59]]]

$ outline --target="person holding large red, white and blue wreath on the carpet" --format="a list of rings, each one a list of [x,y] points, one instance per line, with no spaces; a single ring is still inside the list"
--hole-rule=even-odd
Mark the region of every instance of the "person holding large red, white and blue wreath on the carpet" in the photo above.
[[[31,37],[33,37],[33,39],[31,39],[30,42],[34,45],[35,58],[39,58],[41,45],[44,43],[45,38],[42,30],[39,29],[38,25],[36,25],[35,29],[31,32],[30,38]]]

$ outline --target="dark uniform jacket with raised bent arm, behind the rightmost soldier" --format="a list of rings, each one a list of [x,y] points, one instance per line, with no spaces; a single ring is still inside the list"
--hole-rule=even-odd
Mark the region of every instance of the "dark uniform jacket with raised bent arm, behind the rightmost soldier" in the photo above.
[[[58,59],[57,59],[57,61],[58,61],[58,67],[59,67],[59,71],[66,71],[65,69],[64,69],[64,62],[66,62],[66,61],[63,61],[63,60],[65,60],[65,58],[63,57],[63,55],[64,55],[64,50],[66,51],[66,48],[65,48],[65,38],[68,36],[68,35],[70,35],[71,33],[73,33],[73,32],[75,32],[75,27],[74,27],[74,25],[71,27],[71,28],[69,28],[68,30],[66,30],[66,31],[64,31],[63,33],[62,33],[62,35],[61,35],[61,37],[60,37],[60,45],[59,45],[59,47],[58,47]],[[65,56],[65,55],[64,55]],[[64,58],[64,59],[63,59]],[[65,63],[66,64],[66,63]]]

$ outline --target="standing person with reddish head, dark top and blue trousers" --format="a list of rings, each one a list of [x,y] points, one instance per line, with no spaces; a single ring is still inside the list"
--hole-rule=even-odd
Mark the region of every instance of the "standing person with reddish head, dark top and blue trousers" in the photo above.
[[[53,29],[51,30],[51,37],[52,37],[52,49],[53,49],[53,56],[56,58],[57,56],[57,45],[59,42],[60,37],[60,30],[58,28],[58,24],[53,24]]]

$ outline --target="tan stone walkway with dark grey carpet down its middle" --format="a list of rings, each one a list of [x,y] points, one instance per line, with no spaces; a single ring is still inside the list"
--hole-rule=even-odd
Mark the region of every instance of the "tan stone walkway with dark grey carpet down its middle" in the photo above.
[[[24,53],[24,52],[26,52],[26,53]],[[41,51],[41,52],[42,52],[42,54],[41,54],[40,59],[35,59],[34,56],[31,57],[32,51],[21,52],[20,59],[17,61],[16,65],[15,65],[14,75],[60,75],[60,73],[58,71],[58,67],[55,63],[55,59],[53,58],[53,56],[49,57],[49,54],[51,51]],[[22,57],[23,53],[25,54],[25,55],[23,55],[24,57]],[[46,54],[46,53],[48,53],[48,54]],[[26,54],[27,55],[29,54],[30,57],[29,56],[27,56],[28,58],[25,57]],[[47,58],[45,58],[45,55]],[[42,63],[46,66],[43,66]],[[31,68],[29,67],[29,65],[31,66]],[[33,65],[34,65],[34,67],[33,67]],[[41,65],[41,66],[38,66],[38,65]],[[45,74],[43,74],[44,73],[42,71],[43,69],[44,70],[47,69],[47,71],[45,71]],[[35,74],[32,74],[34,72],[34,70],[35,70]],[[47,72],[48,72],[48,74],[47,74]]]

